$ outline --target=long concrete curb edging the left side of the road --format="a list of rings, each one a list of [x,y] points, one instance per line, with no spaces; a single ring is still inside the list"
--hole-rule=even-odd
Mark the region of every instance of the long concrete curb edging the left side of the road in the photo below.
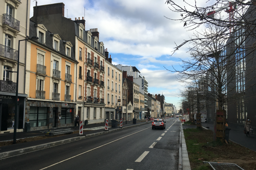
[[[144,124],[150,124],[151,122],[148,123],[142,123],[142,124],[137,124],[137,125],[132,125],[132,126],[126,126],[123,128],[118,128],[118,129],[113,129],[110,131],[102,131],[102,132],[98,132],[98,133],[92,133],[86,136],[78,136],[78,137],[73,137],[73,138],[69,138],[69,139],[64,139],[61,141],[55,141],[55,142],[50,142],[50,143],[45,143],[45,144],[41,144],[41,145],[36,145],[36,146],[30,146],[27,148],[22,148],[22,149],[17,149],[17,150],[12,150],[12,151],[8,151],[8,152],[2,152],[0,153],[0,160],[5,159],[5,158],[10,158],[13,156],[17,156],[20,154],[25,154],[28,152],[33,152],[36,150],[41,150],[41,149],[45,149],[45,148],[49,148],[49,147],[53,147],[53,146],[57,146],[57,145],[62,145],[65,143],[69,143],[69,142],[73,142],[73,141],[79,141],[82,139],[86,139],[86,138],[90,138],[90,137],[94,137],[94,136],[98,136],[98,135],[103,135],[106,133],[111,133],[111,132],[115,132],[115,131],[119,131],[119,130],[123,130],[123,129],[128,129],[128,128],[133,128],[136,126],[141,126]]]

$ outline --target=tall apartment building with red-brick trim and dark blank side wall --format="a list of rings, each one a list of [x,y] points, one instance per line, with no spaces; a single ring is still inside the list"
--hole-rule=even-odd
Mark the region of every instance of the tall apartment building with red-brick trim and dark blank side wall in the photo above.
[[[104,122],[104,44],[99,41],[98,28],[85,30],[83,17],[81,20],[80,17],[75,20],[65,18],[64,6],[63,3],[36,6],[31,20],[44,24],[50,32],[58,33],[63,40],[71,42],[75,59],[79,61],[75,101],[80,120],[86,120],[88,124]]]

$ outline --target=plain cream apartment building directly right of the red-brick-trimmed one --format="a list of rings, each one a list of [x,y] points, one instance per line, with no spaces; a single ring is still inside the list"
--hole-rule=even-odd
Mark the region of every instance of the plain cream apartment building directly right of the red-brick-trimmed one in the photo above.
[[[105,80],[107,81],[107,86],[105,86],[105,99],[107,99],[105,106],[105,118],[108,120],[117,119],[120,120],[122,118],[121,110],[121,98],[122,96],[122,74],[123,71],[119,70],[112,64],[112,58],[108,58],[108,51],[106,49],[105,52],[106,63],[105,67],[107,69],[108,74],[106,74]],[[118,102],[118,99],[120,102]],[[119,107],[117,111],[117,107]]]

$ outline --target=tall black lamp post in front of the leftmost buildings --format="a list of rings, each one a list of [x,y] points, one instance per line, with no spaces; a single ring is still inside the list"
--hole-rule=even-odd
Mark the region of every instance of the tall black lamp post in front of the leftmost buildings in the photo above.
[[[18,44],[18,63],[17,63],[17,71],[9,71],[12,73],[17,73],[16,79],[16,96],[15,96],[15,114],[14,114],[14,129],[13,129],[13,144],[16,144],[16,132],[17,132],[17,115],[18,115],[18,85],[19,85],[19,63],[20,63],[20,41],[25,40],[38,40],[38,37],[31,37],[24,40],[19,40]]]

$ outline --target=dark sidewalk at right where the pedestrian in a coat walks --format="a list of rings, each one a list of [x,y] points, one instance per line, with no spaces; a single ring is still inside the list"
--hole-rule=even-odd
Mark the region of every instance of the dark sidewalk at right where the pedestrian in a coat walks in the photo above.
[[[202,126],[206,128],[207,123],[202,122]],[[208,123],[208,126],[213,131],[213,124]],[[231,129],[229,131],[229,139],[256,152],[256,134],[246,137],[243,131]]]

